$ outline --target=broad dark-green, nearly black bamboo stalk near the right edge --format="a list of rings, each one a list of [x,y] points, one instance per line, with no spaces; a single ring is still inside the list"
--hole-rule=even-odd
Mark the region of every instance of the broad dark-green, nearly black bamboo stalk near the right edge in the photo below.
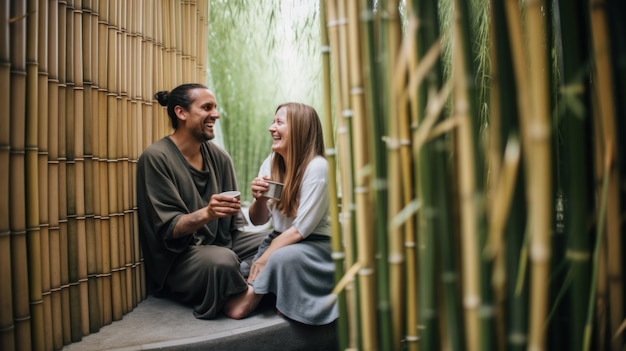
[[[591,284],[591,248],[589,245],[590,228],[589,218],[593,213],[591,201],[588,199],[589,189],[587,184],[593,178],[589,165],[591,160],[585,150],[590,146],[590,135],[587,130],[592,130],[587,114],[589,111],[580,111],[584,116],[577,115],[568,109],[568,102],[572,100],[586,100],[583,87],[585,82],[579,74],[585,62],[589,60],[586,50],[582,47],[581,38],[586,37],[587,30],[581,26],[578,18],[586,15],[581,2],[559,3],[559,13],[562,24],[562,78],[560,91],[564,95],[558,105],[562,118],[559,130],[562,134],[560,153],[562,155],[563,173],[562,178],[563,201],[567,202],[565,215],[566,234],[566,259],[569,261],[569,275],[571,286],[569,288],[570,302],[568,310],[569,319],[569,348],[582,350],[586,311],[581,306],[589,302],[589,286]],[[585,104],[587,105],[587,104]],[[563,108],[564,107],[564,108]],[[583,117],[583,118],[580,118]]]

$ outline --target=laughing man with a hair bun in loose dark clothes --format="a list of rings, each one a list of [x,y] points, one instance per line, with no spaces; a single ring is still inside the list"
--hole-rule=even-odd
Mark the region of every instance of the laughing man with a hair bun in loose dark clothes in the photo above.
[[[155,94],[174,132],[150,145],[137,163],[139,235],[149,292],[194,306],[214,318],[247,291],[240,261],[266,233],[241,231],[246,221],[230,156],[210,140],[220,118],[215,95],[183,84]]]

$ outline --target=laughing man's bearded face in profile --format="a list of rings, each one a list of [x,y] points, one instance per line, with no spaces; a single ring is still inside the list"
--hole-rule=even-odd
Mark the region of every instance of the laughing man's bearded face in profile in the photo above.
[[[190,90],[189,95],[193,103],[189,106],[186,128],[198,142],[215,138],[213,127],[220,118],[215,95],[210,90],[201,88]]]

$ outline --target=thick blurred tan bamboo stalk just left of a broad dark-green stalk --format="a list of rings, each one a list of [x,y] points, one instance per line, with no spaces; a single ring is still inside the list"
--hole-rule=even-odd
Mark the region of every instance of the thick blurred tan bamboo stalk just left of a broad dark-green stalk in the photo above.
[[[529,166],[528,201],[533,204],[529,211],[531,296],[529,347],[545,348],[549,277],[552,186],[550,174],[550,107],[547,72],[547,49],[545,47],[545,17],[543,1],[529,3],[527,34],[530,75],[530,109],[527,118],[529,141],[525,160]]]

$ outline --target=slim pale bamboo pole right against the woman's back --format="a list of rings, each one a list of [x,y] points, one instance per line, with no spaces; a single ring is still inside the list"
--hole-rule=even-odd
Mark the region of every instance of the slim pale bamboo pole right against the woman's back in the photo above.
[[[335,133],[332,118],[332,82],[331,82],[331,48],[328,42],[328,29],[326,27],[327,12],[326,1],[320,2],[320,37],[321,37],[321,51],[322,51],[322,81],[323,81],[323,93],[324,93],[324,139],[326,141],[326,159],[328,160],[328,172],[329,178],[329,193],[330,193],[330,218],[332,226],[332,257],[335,261],[335,281],[339,281],[344,273],[344,264],[346,254],[343,248],[343,237],[341,231],[341,223],[339,221],[339,187],[337,184],[337,150],[335,148]],[[199,45],[199,47],[202,47]],[[337,294],[339,315],[347,316],[348,310],[346,306],[346,293],[345,291]],[[346,318],[340,318],[337,322],[337,334],[339,337],[338,347],[341,350],[345,350],[348,347],[349,329],[348,320]]]

